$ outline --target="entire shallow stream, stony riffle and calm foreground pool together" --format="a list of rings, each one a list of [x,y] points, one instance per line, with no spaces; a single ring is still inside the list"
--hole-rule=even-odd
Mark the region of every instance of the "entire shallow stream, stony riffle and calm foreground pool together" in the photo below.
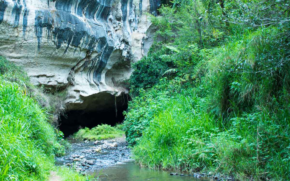
[[[101,181],[208,181],[198,175],[170,175],[168,171],[141,168],[130,159],[131,151],[125,138],[115,140],[84,142],[70,140],[72,149],[65,156],[57,157],[55,164],[66,165],[80,173],[95,175]],[[117,145],[117,146],[116,146]],[[101,151],[96,151],[96,150]]]

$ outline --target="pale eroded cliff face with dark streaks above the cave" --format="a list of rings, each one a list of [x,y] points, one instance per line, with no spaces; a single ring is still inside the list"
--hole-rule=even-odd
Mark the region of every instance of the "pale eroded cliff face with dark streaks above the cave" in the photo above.
[[[156,14],[159,5],[159,0],[0,0],[0,54],[22,66],[35,85],[67,89],[70,110],[114,106],[101,103],[104,95],[128,93],[122,81],[148,49],[148,42],[145,52],[143,47],[151,23],[145,12]]]

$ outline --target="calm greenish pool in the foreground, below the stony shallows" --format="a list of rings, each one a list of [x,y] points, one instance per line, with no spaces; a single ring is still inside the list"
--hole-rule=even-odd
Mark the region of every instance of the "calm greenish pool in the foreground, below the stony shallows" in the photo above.
[[[95,174],[99,174],[96,171]],[[170,175],[169,172],[162,170],[150,170],[147,168],[140,168],[133,162],[125,162],[124,164],[117,164],[102,170],[102,175],[99,176],[101,181],[144,181],[144,180],[164,180],[164,181],[209,181],[209,178],[195,178],[190,175]]]

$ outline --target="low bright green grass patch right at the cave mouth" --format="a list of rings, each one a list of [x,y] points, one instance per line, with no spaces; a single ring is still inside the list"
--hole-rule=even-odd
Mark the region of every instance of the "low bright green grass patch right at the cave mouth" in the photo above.
[[[111,127],[107,124],[102,124],[93,127],[92,129],[89,129],[87,127],[84,129],[79,129],[79,131],[73,134],[73,138],[85,140],[108,140],[122,137],[123,135],[124,131],[119,130],[115,127]]]

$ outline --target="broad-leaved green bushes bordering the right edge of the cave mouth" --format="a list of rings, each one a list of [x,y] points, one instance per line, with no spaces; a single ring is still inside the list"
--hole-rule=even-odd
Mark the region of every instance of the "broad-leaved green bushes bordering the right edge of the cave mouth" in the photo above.
[[[181,90],[178,78],[168,81],[165,77],[160,79],[160,82],[162,83],[155,85],[151,89],[139,89],[139,96],[130,101],[128,111],[124,111],[126,116],[123,123],[125,135],[131,145],[137,143],[155,114],[164,108],[164,101],[173,98],[171,96],[173,96],[174,92]]]

